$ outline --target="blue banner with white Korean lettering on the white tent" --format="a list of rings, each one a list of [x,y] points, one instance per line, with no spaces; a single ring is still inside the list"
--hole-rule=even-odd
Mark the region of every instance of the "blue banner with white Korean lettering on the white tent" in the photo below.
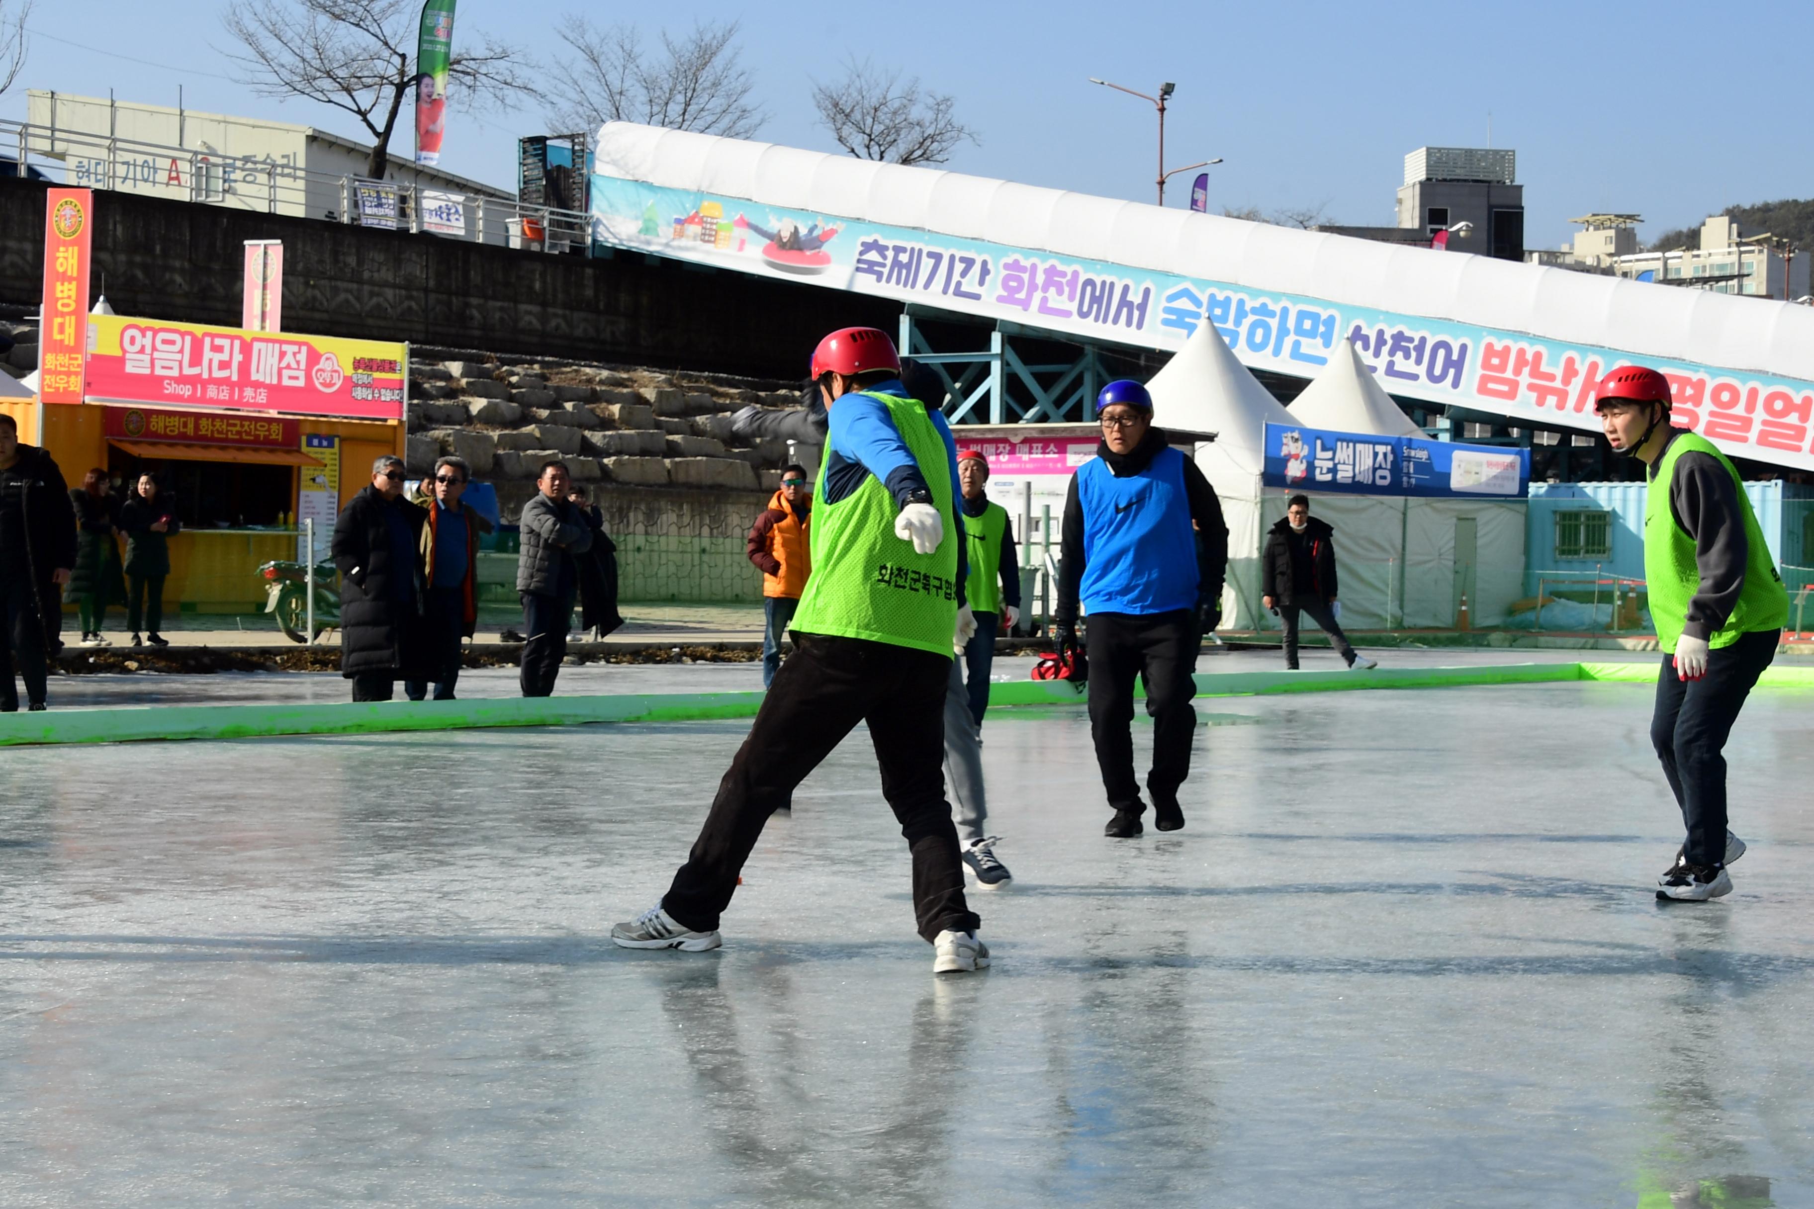
[[[1261,480],[1293,491],[1522,500],[1531,451],[1266,424]]]

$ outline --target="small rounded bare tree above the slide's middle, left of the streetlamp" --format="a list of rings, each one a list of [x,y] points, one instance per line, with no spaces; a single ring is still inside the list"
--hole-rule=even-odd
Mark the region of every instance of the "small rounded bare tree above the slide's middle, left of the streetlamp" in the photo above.
[[[878,73],[851,62],[838,83],[813,83],[820,125],[858,160],[945,163],[963,140],[981,140],[956,116],[945,92],[920,92],[920,80],[902,83],[900,71]]]

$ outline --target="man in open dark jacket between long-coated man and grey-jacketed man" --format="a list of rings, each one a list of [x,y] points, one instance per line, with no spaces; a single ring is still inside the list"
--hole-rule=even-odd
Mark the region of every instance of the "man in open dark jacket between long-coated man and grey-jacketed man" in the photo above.
[[[412,701],[428,696],[430,680],[437,701],[454,700],[461,640],[472,638],[479,624],[479,537],[492,531],[492,522],[461,504],[470,479],[472,468],[464,459],[444,457],[435,462],[434,479],[423,482],[415,497],[415,504],[426,513],[419,556],[430,674],[403,682],[403,692]]]

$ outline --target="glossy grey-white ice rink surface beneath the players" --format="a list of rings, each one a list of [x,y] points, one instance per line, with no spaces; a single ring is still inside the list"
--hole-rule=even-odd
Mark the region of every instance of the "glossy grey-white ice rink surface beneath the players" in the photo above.
[[[655,671],[600,683],[755,676]],[[1081,709],[994,711],[1016,883],[940,979],[863,732],[698,955],[606,933],[746,723],[13,749],[0,1204],[1809,1205],[1810,707],[1752,696],[1736,892],[1669,906],[1643,687],[1199,700],[1134,841]]]

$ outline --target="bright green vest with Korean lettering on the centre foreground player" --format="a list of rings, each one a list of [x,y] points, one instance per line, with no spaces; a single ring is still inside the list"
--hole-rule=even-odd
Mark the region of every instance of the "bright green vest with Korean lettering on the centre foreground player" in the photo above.
[[[920,555],[912,542],[894,537],[900,509],[874,475],[867,475],[863,486],[836,504],[825,504],[825,468],[831,459],[822,459],[822,502],[813,508],[809,538],[813,575],[805,582],[793,627],[804,634],[867,638],[949,658],[958,625],[958,529],[951,453],[918,401],[869,397],[889,410],[907,451],[918,462],[932,491],[932,508],[945,520],[945,540],[931,555]]]

